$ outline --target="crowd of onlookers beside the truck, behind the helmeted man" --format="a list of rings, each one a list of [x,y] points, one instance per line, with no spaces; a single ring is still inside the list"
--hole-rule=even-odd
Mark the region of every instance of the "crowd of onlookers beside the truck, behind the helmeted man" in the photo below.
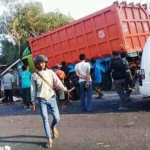
[[[140,68],[140,59],[135,61],[135,58],[132,58],[132,60],[128,61],[126,56],[126,53],[119,54],[117,51],[113,51],[112,61],[108,69],[112,77],[112,85],[115,86],[122,102],[121,106],[124,108],[124,103],[132,101],[130,94],[134,91],[135,80],[137,80],[137,70]],[[73,99],[79,99],[76,98],[76,96],[80,94],[81,109],[90,111],[92,110],[93,91],[97,93],[95,99],[102,99],[104,96],[101,91],[103,82],[102,74],[105,73],[106,70],[100,63],[96,63],[96,59],[91,59],[90,63],[86,62],[85,54],[80,54],[79,60],[80,62],[75,65],[75,74],[70,75],[70,68],[66,65],[65,61],[62,61],[61,64],[56,64],[55,68],[53,68],[53,71],[63,85],[72,89],[72,92],[66,94],[56,85],[54,89],[60,108],[66,108],[66,104],[71,103]],[[5,93],[5,102],[14,104],[13,89],[15,86],[12,69],[8,70],[1,81],[1,91]],[[27,109],[32,106],[30,87],[31,72],[28,66],[23,65],[18,70],[17,89],[22,95],[23,107]],[[78,88],[78,91],[76,88]],[[76,93],[76,91],[78,93]],[[87,104],[85,104],[85,98],[87,98]]]

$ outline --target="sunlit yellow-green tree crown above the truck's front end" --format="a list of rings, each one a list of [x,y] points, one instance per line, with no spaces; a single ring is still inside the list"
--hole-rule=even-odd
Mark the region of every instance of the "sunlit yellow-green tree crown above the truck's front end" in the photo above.
[[[41,34],[48,30],[53,30],[73,21],[70,16],[65,16],[60,12],[50,12],[45,14],[41,3],[28,3],[18,11],[9,23],[9,31],[15,36],[15,41],[27,38],[31,33]],[[16,33],[14,33],[16,32]]]

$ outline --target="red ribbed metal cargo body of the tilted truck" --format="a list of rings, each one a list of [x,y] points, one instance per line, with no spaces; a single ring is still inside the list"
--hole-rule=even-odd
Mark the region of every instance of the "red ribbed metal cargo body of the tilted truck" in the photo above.
[[[141,51],[150,35],[146,5],[114,2],[110,7],[95,12],[56,30],[29,38],[33,57],[44,54],[49,67],[65,60],[79,61],[79,54],[88,59],[104,58],[113,50],[133,53]]]

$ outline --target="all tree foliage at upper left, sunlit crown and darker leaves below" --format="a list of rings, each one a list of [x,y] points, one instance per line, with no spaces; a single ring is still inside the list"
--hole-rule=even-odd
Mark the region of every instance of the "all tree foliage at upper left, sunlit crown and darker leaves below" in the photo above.
[[[0,0],[5,4],[11,4],[18,0]],[[9,9],[9,6],[11,6]],[[12,9],[14,6],[14,9]],[[73,21],[73,18],[66,16],[59,11],[44,13],[42,4],[39,2],[26,3],[21,5],[19,2],[15,5],[8,5],[9,11],[0,17],[0,33],[9,34],[16,45],[2,42],[4,55],[7,60],[14,57],[20,57],[27,46],[27,38],[31,34],[39,35],[43,32],[53,30]],[[8,50],[6,45],[9,45]],[[9,56],[11,55],[11,56]]]

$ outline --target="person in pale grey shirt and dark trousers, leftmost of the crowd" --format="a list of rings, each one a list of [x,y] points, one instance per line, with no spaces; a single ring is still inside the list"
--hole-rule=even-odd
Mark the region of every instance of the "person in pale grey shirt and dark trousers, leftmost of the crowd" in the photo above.
[[[2,86],[1,90],[4,90],[6,103],[10,102],[14,104],[13,101],[13,88],[14,88],[14,77],[12,75],[12,69],[9,69],[8,72],[2,77]]]

